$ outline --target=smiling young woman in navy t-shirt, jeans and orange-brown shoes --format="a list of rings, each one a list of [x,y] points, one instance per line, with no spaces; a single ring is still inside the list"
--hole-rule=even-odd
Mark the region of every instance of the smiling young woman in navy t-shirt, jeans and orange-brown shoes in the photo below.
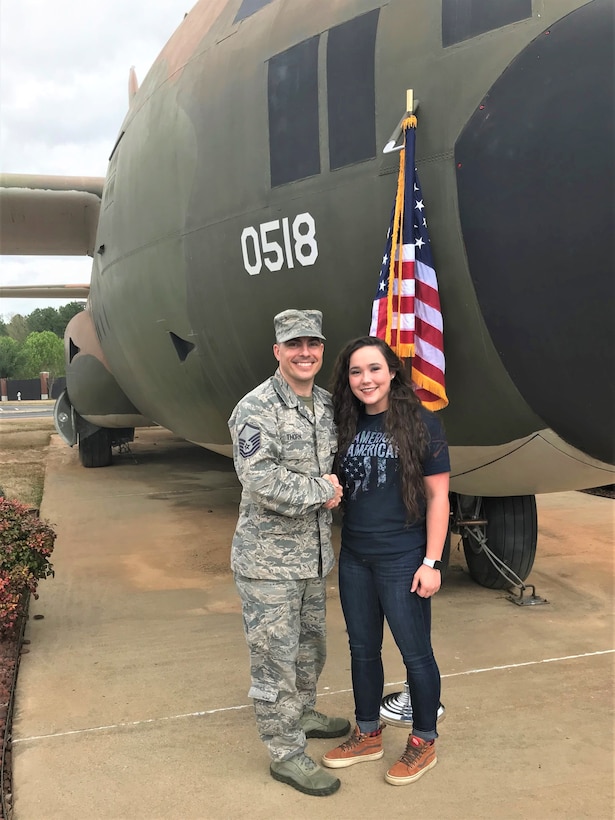
[[[448,446],[439,419],[423,408],[403,362],[381,339],[366,336],[346,345],[331,391],[344,488],[339,589],[357,725],[323,764],[342,768],[384,754],[379,716],[386,617],[413,710],[406,750],[385,775],[402,786],[437,761],[440,672],[431,647],[430,599],[440,588],[448,530]]]

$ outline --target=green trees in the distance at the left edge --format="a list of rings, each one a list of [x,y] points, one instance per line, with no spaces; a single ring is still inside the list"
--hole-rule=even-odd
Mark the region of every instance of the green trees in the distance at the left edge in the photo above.
[[[52,377],[64,376],[64,331],[84,307],[85,302],[69,302],[0,319],[0,377],[33,379],[44,370]]]

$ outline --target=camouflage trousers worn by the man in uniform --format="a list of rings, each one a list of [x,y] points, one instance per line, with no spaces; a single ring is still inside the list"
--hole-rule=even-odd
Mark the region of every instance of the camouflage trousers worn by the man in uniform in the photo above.
[[[272,760],[303,751],[304,709],[316,703],[326,658],[325,580],[261,581],[235,576],[250,650],[256,726]]]

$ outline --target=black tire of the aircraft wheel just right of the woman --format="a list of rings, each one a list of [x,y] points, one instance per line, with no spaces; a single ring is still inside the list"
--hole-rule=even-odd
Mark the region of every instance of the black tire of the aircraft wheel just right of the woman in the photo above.
[[[533,495],[482,498],[478,518],[487,519],[487,546],[525,581],[536,557],[537,519]],[[511,581],[493,566],[478,540],[462,533],[463,551],[471,577],[489,589],[507,589]]]

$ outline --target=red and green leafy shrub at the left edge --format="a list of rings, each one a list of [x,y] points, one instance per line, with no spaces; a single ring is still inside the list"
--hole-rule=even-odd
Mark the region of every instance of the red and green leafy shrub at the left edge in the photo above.
[[[0,633],[15,626],[26,594],[36,596],[38,582],[53,575],[55,539],[34,510],[0,497]]]

